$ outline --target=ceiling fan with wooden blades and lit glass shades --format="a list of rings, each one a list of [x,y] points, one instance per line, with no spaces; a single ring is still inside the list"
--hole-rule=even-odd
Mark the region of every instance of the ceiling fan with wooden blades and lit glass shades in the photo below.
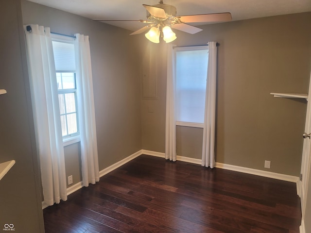
[[[194,34],[201,32],[203,29],[191,26],[187,23],[198,22],[224,22],[232,19],[230,13],[216,13],[216,14],[203,14],[203,15],[189,15],[189,16],[176,16],[176,7],[173,5],[164,4],[160,0],[156,5],[145,5],[143,7],[147,10],[147,20],[93,20],[93,21],[138,21],[148,23],[131,35],[140,34],[148,29],[149,32],[145,34],[147,39],[154,43],[159,43],[159,37],[162,35],[166,43],[172,42],[177,37],[172,31],[173,29],[180,30],[186,33]]]

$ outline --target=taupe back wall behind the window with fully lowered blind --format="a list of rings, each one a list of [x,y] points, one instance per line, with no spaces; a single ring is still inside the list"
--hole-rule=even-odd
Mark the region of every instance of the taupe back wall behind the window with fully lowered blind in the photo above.
[[[311,13],[200,27],[204,30],[193,35],[177,32],[173,43],[220,43],[216,161],[264,170],[264,160],[270,160],[271,169],[266,170],[298,176],[306,100],[273,98],[269,93],[308,92]],[[165,120],[159,119],[165,118],[166,65],[161,70],[158,86],[163,89],[157,88],[158,99],[142,100],[142,122],[156,124],[143,124],[142,147],[158,152],[165,150]],[[159,107],[150,114],[148,104]],[[154,134],[153,129],[161,135]],[[198,142],[202,142],[202,133],[197,129],[187,131],[191,129],[177,128],[177,153],[200,158],[202,143]]]

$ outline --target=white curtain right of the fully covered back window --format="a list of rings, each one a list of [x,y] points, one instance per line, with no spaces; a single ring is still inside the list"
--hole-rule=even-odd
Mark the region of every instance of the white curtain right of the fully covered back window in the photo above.
[[[217,43],[208,42],[207,87],[203,128],[202,166],[215,165],[215,117],[216,117],[216,73]]]

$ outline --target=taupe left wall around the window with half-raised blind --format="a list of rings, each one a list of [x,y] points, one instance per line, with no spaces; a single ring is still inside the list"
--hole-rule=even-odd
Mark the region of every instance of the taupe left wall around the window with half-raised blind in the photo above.
[[[22,13],[23,24],[89,35],[100,170],[141,150],[139,63],[130,32],[25,0]],[[79,144],[66,147],[65,157],[66,175],[78,183]]]

